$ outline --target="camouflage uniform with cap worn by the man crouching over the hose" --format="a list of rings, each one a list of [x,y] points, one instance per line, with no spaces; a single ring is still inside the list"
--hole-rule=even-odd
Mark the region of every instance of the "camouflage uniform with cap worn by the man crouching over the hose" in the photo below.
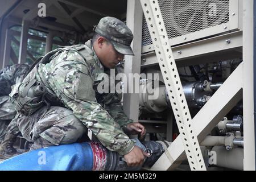
[[[126,54],[132,55],[130,43],[133,34],[124,26],[120,20],[106,17],[101,19],[96,32],[99,33],[105,28],[106,33],[117,33],[115,37],[105,35],[105,32],[100,32],[100,35],[109,40],[115,39],[115,48],[121,47],[121,53],[126,51]],[[129,39],[126,40],[126,37]],[[119,40],[121,38],[123,39]],[[121,42],[120,45],[118,41]],[[127,42],[129,46],[124,46]],[[104,67],[94,52],[91,41],[79,49],[84,52],[80,53],[71,47],[59,49],[48,64],[40,63],[22,84],[13,88],[10,96],[20,96],[30,80],[36,79],[44,85],[46,93],[63,105],[53,106],[51,100],[46,97],[51,106],[43,106],[27,115],[20,111],[18,127],[24,138],[34,142],[31,149],[76,142],[88,128],[109,150],[125,155],[133,149],[134,143],[123,133],[122,127],[133,121],[123,113],[116,93],[97,92]]]

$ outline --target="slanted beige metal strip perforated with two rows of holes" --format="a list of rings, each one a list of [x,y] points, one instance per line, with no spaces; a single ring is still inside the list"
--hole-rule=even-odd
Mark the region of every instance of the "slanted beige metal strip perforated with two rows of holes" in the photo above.
[[[205,170],[203,155],[197,138],[191,115],[188,110],[187,101],[181,85],[176,63],[172,56],[172,49],[168,40],[166,28],[158,1],[141,0],[144,16],[147,21],[148,30],[155,47],[156,57],[164,77],[164,83],[167,88],[172,110],[174,111],[177,126],[182,136],[182,143],[188,156],[191,170]]]

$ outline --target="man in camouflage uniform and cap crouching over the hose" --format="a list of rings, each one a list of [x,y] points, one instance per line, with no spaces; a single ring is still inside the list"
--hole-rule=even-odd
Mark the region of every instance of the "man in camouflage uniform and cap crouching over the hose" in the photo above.
[[[94,31],[85,44],[49,52],[14,86],[10,97],[19,113],[18,127],[34,142],[31,150],[77,142],[90,129],[106,148],[123,155],[128,166],[141,165],[148,154],[127,134],[143,136],[144,126],[126,117],[116,93],[97,92],[102,73],[124,55],[134,55],[133,34],[113,17],[102,18]]]

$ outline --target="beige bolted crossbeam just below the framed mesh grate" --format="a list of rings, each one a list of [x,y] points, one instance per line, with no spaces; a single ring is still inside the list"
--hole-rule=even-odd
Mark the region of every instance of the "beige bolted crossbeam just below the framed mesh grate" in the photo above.
[[[230,42],[228,42],[230,40]],[[177,66],[242,57],[242,31],[172,47]],[[155,52],[142,55],[142,67],[158,64]]]

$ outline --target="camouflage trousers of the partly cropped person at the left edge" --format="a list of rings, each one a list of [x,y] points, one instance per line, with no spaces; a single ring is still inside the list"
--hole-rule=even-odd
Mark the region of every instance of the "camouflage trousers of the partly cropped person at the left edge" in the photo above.
[[[14,119],[15,115],[16,111],[9,100],[9,96],[0,97],[0,142],[5,138],[6,133],[14,135],[19,133],[16,119]]]

